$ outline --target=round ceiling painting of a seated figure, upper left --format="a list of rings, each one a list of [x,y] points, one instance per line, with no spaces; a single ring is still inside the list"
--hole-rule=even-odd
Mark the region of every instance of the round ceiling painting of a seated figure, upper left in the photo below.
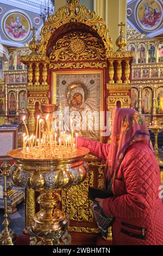
[[[24,41],[30,35],[29,17],[20,11],[12,11],[3,19],[3,32],[12,41]]]

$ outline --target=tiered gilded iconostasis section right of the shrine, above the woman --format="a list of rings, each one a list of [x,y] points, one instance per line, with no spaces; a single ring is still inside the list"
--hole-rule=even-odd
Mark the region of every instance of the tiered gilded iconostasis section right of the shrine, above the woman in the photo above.
[[[134,51],[132,64],[131,107],[145,114],[148,123],[163,117],[163,40],[130,39],[128,51]]]

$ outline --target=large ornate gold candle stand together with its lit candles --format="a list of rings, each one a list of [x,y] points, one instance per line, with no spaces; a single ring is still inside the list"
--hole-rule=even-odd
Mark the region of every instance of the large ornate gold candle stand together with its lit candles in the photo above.
[[[61,133],[57,139],[57,132],[52,127],[52,112],[53,105],[42,107],[42,118],[37,118],[36,125],[39,139],[29,136],[26,126],[27,138],[24,137],[23,149],[8,152],[17,167],[13,174],[15,184],[41,193],[37,202],[42,210],[35,214],[32,227],[28,228],[34,239],[39,237],[37,244],[40,245],[58,245],[60,240],[65,244],[71,243],[67,231],[68,218],[57,209],[61,202],[59,191],[78,185],[85,179],[87,166],[83,159],[89,153],[88,149],[73,143],[73,131],[68,137],[62,134],[62,143]],[[33,239],[31,243],[34,243]]]

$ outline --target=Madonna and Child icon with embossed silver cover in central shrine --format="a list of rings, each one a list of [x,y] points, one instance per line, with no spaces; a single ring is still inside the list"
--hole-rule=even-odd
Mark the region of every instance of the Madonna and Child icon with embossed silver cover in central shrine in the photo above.
[[[69,115],[73,115],[73,120],[77,120],[76,116],[78,115],[80,124],[76,126],[75,130],[79,136],[100,140],[102,71],[53,72],[53,75],[53,103],[59,104],[60,109],[68,109]],[[91,118],[90,121],[87,119],[89,117],[85,119],[83,116],[87,113]],[[93,114],[95,115],[92,119]]]

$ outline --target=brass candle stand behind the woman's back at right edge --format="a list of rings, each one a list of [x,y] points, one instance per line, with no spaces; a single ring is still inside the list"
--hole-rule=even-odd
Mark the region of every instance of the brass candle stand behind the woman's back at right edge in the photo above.
[[[159,147],[158,147],[158,135],[163,131],[163,127],[157,124],[149,125],[148,130],[154,133],[154,154],[158,160],[159,166],[163,166],[163,161],[159,157]]]

